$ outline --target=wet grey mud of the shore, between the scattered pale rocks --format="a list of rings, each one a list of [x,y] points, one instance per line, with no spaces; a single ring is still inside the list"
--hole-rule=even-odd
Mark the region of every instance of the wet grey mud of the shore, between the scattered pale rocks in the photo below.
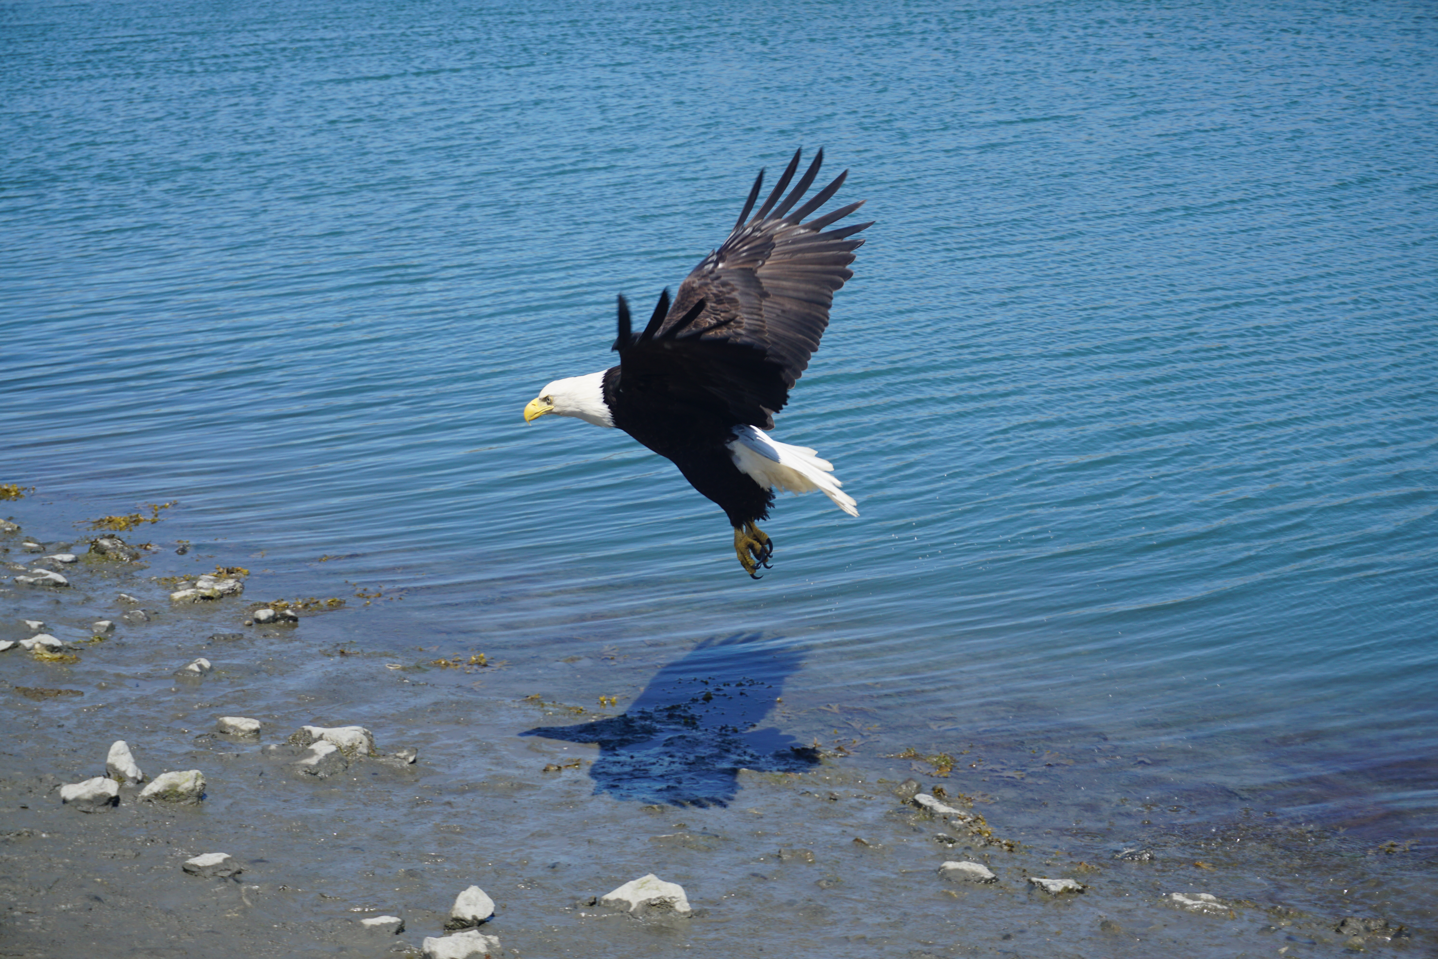
[[[585,682],[615,666],[603,654],[479,664],[414,637],[400,657],[394,637],[368,641],[380,620],[352,600],[293,625],[246,625],[272,597],[173,604],[175,584],[144,559],[86,552],[93,535],[27,552],[24,532],[0,533],[4,561],[23,566],[0,587],[0,640],[33,635],[22,620],[39,620],[78,660],[0,653],[4,956],[417,952],[470,884],[496,901],[485,932],[506,956],[1438,953],[1432,858],[1261,811],[1179,824],[1130,798],[1130,774],[1102,756],[974,781],[805,742],[800,730],[828,720],[785,713],[782,661],[755,663],[745,680],[705,673],[742,644],[699,648],[692,669],[618,664],[654,679],[595,706],[564,694],[633,686]],[[16,584],[62,549],[78,555],[52,564],[69,587]],[[342,592],[344,571],[334,575]],[[150,620],[122,620],[135,608]],[[114,635],[88,641],[95,620],[115,621]],[[197,657],[213,671],[175,676]],[[220,716],[259,719],[262,735],[219,735]],[[791,732],[771,726],[777,716]],[[316,779],[286,745],[302,725],[361,725],[380,753],[418,759],[357,758]],[[62,805],[59,786],[104,775],[116,739],[148,776],[200,769],[204,801],[144,804],[127,785],[104,812]],[[910,776],[962,817],[915,805]],[[975,814],[982,824],[961,821]],[[1123,848],[1152,858],[1116,858]],[[204,853],[243,873],[183,871]],[[946,880],[945,861],[979,863],[997,881]],[[682,884],[696,914],[649,922],[587,904],[647,873]],[[1084,891],[1050,896],[1031,877]],[[1185,912],[1172,893],[1219,904]],[[360,927],[381,914],[404,932]],[[1353,939],[1345,917],[1386,932]]]

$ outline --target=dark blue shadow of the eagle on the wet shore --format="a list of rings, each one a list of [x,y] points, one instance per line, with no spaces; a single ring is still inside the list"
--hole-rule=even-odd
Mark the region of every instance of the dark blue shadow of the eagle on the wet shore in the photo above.
[[[798,670],[795,650],[756,647],[756,635],[705,640],[661,669],[623,716],[536,726],[521,736],[597,743],[594,792],[669,805],[729,805],[739,771],[802,772],[818,751],[761,728]]]

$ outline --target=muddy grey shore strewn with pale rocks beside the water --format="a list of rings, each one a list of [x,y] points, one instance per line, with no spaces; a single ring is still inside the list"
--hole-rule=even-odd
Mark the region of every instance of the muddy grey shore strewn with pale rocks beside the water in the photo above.
[[[818,743],[732,801],[626,799],[595,762],[663,709],[561,726],[459,682],[480,654],[395,661],[362,615],[326,646],[335,604],[53,535],[0,523],[6,956],[1438,955],[1434,868],[1340,837],[1063,830],[1061,791],[1045,825]]]

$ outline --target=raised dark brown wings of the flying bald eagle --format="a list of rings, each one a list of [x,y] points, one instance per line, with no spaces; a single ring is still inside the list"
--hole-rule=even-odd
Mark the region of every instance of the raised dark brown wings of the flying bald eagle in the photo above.
[[[788,403],[789,388],[828,326],[834,290],[853,276],[848,265],[863,240],[850,237],[870,226],[825,231],[863,206],[861,200],[802,221],[848,175],[846,170],[797,206],[823,162],[820,150],[785,197],[800,164],[795,151],[768,200],[749,219],[764,183],[761,170],[729,237],[689,273],[673,305],[664,290],[644,332],[631,332],[628,308],[620,298],[614,349],[626,390],[774,427],[772,414]]]

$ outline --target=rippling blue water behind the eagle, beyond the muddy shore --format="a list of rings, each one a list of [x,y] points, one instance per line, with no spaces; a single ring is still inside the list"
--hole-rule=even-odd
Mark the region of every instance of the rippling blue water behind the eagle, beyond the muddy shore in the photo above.
[[[252,594],[403,595],[372,646],[758,635],[777,735],[1438,834],[1429,4],[19,1],[0,92],[0,512],[174,499],[139,538]],[[521,410],[798,145],[877,224],[775,434],[861,516],[781,499],[752,582]]]

